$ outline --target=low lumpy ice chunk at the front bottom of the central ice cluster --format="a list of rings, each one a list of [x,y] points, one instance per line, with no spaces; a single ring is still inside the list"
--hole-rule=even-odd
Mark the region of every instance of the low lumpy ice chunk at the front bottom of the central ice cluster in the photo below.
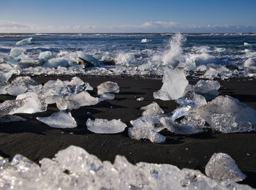
[[[140,140],[148,139],[151,142],[165,142],[165,136],[159,134],[154,129],[148,126],[133,126],[129,127],[128,134],[131,139]]]

